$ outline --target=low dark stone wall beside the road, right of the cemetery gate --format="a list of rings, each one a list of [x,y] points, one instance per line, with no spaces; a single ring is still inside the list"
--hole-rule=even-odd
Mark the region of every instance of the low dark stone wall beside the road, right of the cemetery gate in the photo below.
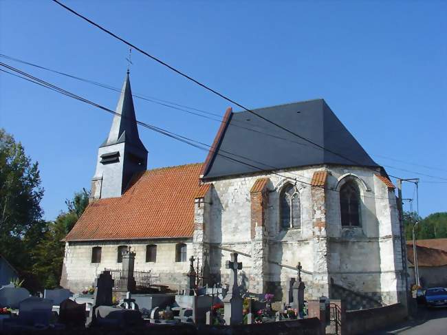
[[[349,311],[346,312],[345,322],[342,324],[342,334],[364,334],[398,323],[406,316],[406,308],[400,303],[368,310]]]

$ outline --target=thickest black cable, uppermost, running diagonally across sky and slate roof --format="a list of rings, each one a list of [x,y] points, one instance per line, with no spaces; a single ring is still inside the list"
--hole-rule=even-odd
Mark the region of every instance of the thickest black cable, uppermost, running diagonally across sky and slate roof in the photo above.
[[[316,142],[314,142],[314,141],[312,141],[312,140],[309,140],[309,139],[307,139],[307,138],[305,138],[305,137],[299,135],[298,133],[295,133],[294,131],[290,131],[289,129],[287,129],[287,128],[281,126],[281,125],[279,125],[278,123],[276,123],[276,122],[274,122],[274,121],[272,121],[272,120],[269,120],[268,118],[265,118],[264,116],[261,116],[261,115],[257,114],[256,112],[254,112],[254,111],[248,109],[247,107],[245,107],[245,106],[239,104],[239,103],[236,102],[235,100],[232,100],[231,98],[228,98],[228,96],[225,96],[225,95],[219,93],[218,91],[216,91],[215,89],[212,89],[211,87],[208,87],[208,86],[205,85],[204,83],[199,82],[199,80],[197,80],[197,79],[195,79],[195,78],[193,78],[193,77],[191,77],[191,76],[188,76],[187,74],[184,74],[184,73],[181,72],[179,69],[176,69],[175,67],[173,67],[173,66],[169,65],[168,63],[162,61],[160,58],[157,58],[157,57],[155,57],[155,56],[149,54],[148,52],[145,52],[144,50],[140,49],[140,47],[137,47],[136,45],[133,45],[133,44],[130,43],[129,41],[126,41],[125,39],[122,39],[120,36],[114,34],[114,33],[111,32],[110,30],[107,30],[106,28],[103,28],[103,27],[102,27],[101,25],[99,25],[98,23],[95,23],[94,21],[91,21],[90,19],[88,19],[87,17],[83,16],[82,14],[79,14],[78,12],[76,12],[75,10],[73,10],[72,8],[69,8],[68,6],[65,6],[65,5],[64,5],[63,3],[61,3],[60,1],[58,1],[58,0],[52,0],[52,1],[54,1],[55,3],[57,3],[59,6],[65,8],[65,9],[68,10],[69,12],[72,12],[72,14],[75,14],[77,17],[80,17],[80,18],[83,19],[84,21],[87,21],[87,22],[90,23],[91,25],[94,25],[96,28],[102,30],[103,32],[106,32],[106,33],[109,34],[110,36],[113,36],[115,39],[118,39],[118,40],[121,41],[122,43],[128,45],[129,47],[132,47],[133,49],[137,50],[137,51],[140,52],[141,54],[144,54],[144,56],[147,56],[147,57],[151,58],[153,61],[156,61],[157,63],[160,63],[160,64],[163,65],[164,67],[167,67],[168,69],[171,69],[171,71],[175,72],[176,74],[179,74],[179,76],[182,76],[182,77],[184,77],[184,78],[186,78],[186,79],[192,81],[193,83],[199,85],[200,87],[203,87],[204,89],[206,89],[206,90],[212,92],[213,94],[215,94],[215,95],[217,95],[217,96],[219,96],[219,97],[221,97],[221,98],[227,100],[228,102],[231,102],[231,103],[237,105],[238,107],[241,107],[242,109],[248,111],[250,114],[253,114],[254,116],[257,116],[258,118],[261,118],[261,119],[264,120],[265,122],[268,122],[268,123],[274,125],[275,127],[278,127],[278,128],[280,128],[280,129],[282,129],[283,131],[286,131],[287,133],[292,134],[293,136],[296,136],[296,137],[298,137],[298,138],[301,138],[301,140],[305,140],[306,142],[309,142],[310,144],[313,144],[314,146],[319,147],[320,149],[323,149],[323,150],[325,150],[325,151],[327,151],[327,152],[329,152],[329,153],[332,153],[332,154],[334,154],[334,155],[338,155],[340,158],[343,158],[344,160],[348,160],[349,162],[353,162],[353,163],[355,163],[355,165],[360,165],[360,166],[363,165],[363,164],[360,164],[359,162],[356,162],[355,160],[351,160],[351,158],[347,158],[347,157],[345,157],[345,155],[341,155],[340,153],[336,153],[335,151],[332,151],[332,150],[330,150],[330,149],[327,149],[327,148],[323,147],[322,145],[320,145],[320,144],[318,144],[318,143],[316,143]],[[371,167],[369,167],[369,169],[371,169]],[[372,170],[372,171],[375,171],[374,169],[371,169],[371,170]],[[394,175],[390,175],[390,176],[391,176],[391,177],[395,177],[395,178],[397,178],[397,177],[394,176]]]

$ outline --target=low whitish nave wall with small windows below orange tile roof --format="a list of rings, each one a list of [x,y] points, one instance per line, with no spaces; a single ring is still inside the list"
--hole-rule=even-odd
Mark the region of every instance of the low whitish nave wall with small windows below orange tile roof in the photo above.
[[[176,290],[179,285],[186,284],[186,272],[189,261],[175,261],[175,246],[186,243],[187,259],[193,255],[193,244],[190,241],[98,241],[98,242],[70,242],[65,244],[65,258],[61,286],[80,292],[93,285],[96,277],[105,269],[121,269],[118,263],[118,246],[131,246],[135,255],[135,270],[149,271],[154,283],[169,285]],[[146,245],[157,246],[155,262],[146,262]],[[100,246],[100,263],[91,263],[91,248]],[[67,269],[69,269],[67,272]]]

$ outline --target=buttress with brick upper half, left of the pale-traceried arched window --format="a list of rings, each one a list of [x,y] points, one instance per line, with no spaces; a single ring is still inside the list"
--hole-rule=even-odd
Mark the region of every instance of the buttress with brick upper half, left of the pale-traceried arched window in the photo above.
[[[250,292],[265,293],[268,272],[268,244],[265,230],[268,214],[268,178],[254,182],[250,190],[250,225],[252,238],[252,269],[250,271]]]

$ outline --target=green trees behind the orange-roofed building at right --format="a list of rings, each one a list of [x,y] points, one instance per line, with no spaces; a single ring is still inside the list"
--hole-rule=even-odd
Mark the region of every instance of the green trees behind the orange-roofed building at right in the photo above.
[[[415,229],[416,239],[440,239],[447,237],[447,213],[433,213],[422,219],[415,212],[404,212],[403,215],[405,237],[407,241],[413,239],[413,226],[419,222]]]

